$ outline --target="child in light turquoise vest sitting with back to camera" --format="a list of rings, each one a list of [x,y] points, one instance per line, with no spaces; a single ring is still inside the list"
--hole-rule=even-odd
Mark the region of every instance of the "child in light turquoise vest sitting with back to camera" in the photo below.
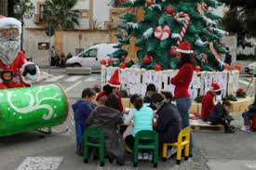
[[[139,95],[133,95],[130,98],[131,104],[134,106],[132,109],[132,116],[128,116],[127,122],[133,120],[132,135],[126,137],[126,143],[130,150],[133,150],[134,137],[142,130],[153,130],[153,117],[154,113],[150,107],[143,104],[143,100]],[[142,141],[147,143],[148,141]],[[143,151],[139,154],[140,160],[152,160],[152,155]]]

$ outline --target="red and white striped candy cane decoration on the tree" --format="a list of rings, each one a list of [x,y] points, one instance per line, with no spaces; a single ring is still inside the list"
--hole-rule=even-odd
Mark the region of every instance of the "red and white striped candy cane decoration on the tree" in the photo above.
[[[190,21],[190,17],[188,14],[184,12],[179,12],[174,16],[174,20],[176,21],[182,21],[183,22],[183,27],[182,27],[182,32],[179,35],[179,40],[177,42],[177,46],[179,46],[182,43],[183,37],[187,31],[187,27]]]

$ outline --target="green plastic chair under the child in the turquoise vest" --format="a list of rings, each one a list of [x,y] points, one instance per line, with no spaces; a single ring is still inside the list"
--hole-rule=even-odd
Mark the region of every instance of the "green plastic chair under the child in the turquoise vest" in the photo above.
[[[141,140],[149,140],[149,143],[141,143]],[[140,131],[135,136],[133,150],[133,166],[137,167],[139,163],[139,150],[153,150],[153,163],[157,167],[158,163],[158,134],[155,131]]]

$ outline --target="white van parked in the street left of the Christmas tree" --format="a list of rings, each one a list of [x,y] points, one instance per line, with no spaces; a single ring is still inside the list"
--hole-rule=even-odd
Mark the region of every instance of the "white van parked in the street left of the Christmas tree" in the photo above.
[[[79,55],[68,59],[66,66],[71,67],[90,67],[91,69],[101,69],[101,59],[109,59],[109,54],[114,53],[117,48],[114,48],[117,44],[101,44],[90,46],[87,50],[83,51]]]

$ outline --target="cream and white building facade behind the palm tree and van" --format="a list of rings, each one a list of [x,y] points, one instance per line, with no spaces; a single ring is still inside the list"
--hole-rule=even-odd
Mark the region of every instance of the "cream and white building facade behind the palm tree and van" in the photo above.
[[[120,7],[118,0],[78,0],[74,9],[81,12],[80,24],[74,31],[56,31],[51,43],[45,31],[45,0],[31,0],[35,7],[32,19],[24,18],[24,50],[27,58],[39,65],[48,65],[48,48],[55,46],[58,53],[73,55],[95,44],[116,43],[120,15],[128,9]]]

